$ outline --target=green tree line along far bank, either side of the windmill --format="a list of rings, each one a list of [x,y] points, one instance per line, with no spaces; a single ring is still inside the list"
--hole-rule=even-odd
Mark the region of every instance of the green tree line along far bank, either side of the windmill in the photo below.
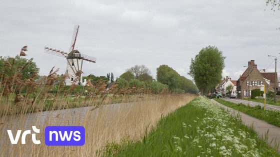
[[[27,51],[27,48],[24,50]],[[4,80],[13,80],[9,77],[17,76],[18,81],[27,81],[32,79],[33,82],[44,83],[48,76],[39,76],[39,68],[31,59],[26,59],[20,56],[25,56],[22,51],[20,55],[17,55],[14,58],[2,57],[0,56],[0,72],[1,72],[1,85],[6,85],[7,82]],[[52,68],[53,69],[53,68]],[[54,71],[56,74],[58,70]],[[52,72],[52,70],[51,70]],[[53,82],[52,91],[58,90],[58,86],[63,82],[63,78],[66,77],[63,74],[59,76],[61,79],[57,79],[57,82]],[[56,78],[56,77],[55,77]],[[57,75],[58,78],[58,75]],[[195,84],[185,78],[180,76],[174,69],[168,67],[167,65],[160,65],[156,69],[156,79],[152,77],[150,70],[145,65],[135,65],[126,70],[123,74],[116,78],[114,81],[113,73],[107,73],[106,76],[94,76],[92,74],[82,77],[90,81],[92,85],[98,84],[98,82],[103,82],[107,84],[117,85],[117,88],[120,89],[141,89],[142,91],[150,91],[152,93],[160,92],[175,92],[175,93],[197,93],[198,90]],[[32,82],[31,80],[31,82]],[[36,81],[37,80],[37,81]],[[40,84],[41,84],[40,83]],[[57,87],[56,87],[57,86]],[[4,87],[4,86],[2,86]],[[66,88],[66,87],[65,87]],[[29,90],[28,87],[20,88],[16,93]]]

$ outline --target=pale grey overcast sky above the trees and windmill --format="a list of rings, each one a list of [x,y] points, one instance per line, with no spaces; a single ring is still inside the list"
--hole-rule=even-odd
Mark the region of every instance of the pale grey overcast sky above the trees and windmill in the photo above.
[[[64,73],[66,60],[43,49],[67,52],[79,24],[75,49],[97,58],[83,63],[84,75],[118,77],[144,64],[155,78],[167,64],[191,78],[190,59],[215,45],[226,56],[223,76],[237,79],[250,59],[274,70],[267,55],[280,58],[279,19],[265,0],[0,0],[0,55],[28,45],[26,58],[34,58],[40,75],[54,65]]]

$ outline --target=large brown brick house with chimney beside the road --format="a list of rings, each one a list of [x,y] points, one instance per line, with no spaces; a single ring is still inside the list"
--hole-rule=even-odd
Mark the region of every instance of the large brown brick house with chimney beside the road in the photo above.
[[[248,98],[251,90],[260,89],[261,85],[265,85],[265,91],[274,91],[275,75],[277,78],[277,73],[258,70],[254,60],[248,61],[247,69],[237,80],[237,98]]]

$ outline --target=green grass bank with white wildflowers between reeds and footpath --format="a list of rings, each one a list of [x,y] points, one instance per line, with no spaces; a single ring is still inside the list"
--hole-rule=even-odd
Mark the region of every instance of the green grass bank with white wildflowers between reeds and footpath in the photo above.
[[[97,152],[115,157],[279,157],[239,118],[198,98],[161,118],[141,141],[110,143]]]

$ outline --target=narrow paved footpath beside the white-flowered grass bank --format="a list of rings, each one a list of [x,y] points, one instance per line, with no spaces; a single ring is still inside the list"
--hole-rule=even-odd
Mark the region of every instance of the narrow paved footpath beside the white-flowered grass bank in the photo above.
[[[212,101],[214,103],[216,103],[217,105],[219,105],[220,107],[228,110],[232,115],[239,114],[243,124],[245,124],[249,127],[252,126],[260,138],[262,138],[262,137],[264,138],[265,135],[267,134],[267,136],[268,136],[267,143],[272,148],[277,147],[277,145],[280,143],[280,128],[279,127],[273,126],[271,124],[266,123],[265,121],[248,116],[242,112],[239,112],[237,110],[224,106],[214,100],[212,100]],[[267,133],[267,131],[268,131],[268,133]],[[271,141],[272,141],[272,143],[270,143]],[[280,147],[278,147],[277,151],[278,151],[278,153],[280,153]]]

